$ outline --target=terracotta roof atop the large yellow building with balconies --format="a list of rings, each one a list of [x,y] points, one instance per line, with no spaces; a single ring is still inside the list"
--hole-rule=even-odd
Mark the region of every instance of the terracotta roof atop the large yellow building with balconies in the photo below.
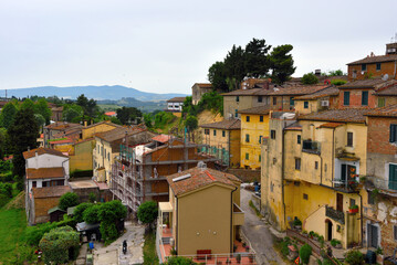
[[[297,119],[364,124],[364,114],[367,113],[368,109],[369,108],[328,109],[321,113],[302,115],[299,116]]]

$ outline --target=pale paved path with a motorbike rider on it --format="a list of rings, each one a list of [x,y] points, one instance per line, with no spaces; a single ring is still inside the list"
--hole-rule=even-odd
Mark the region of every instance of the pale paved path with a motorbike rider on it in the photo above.
[[[95,242],[93,252],[94,265],[129,265],[144,263],[144,234],[145,227],[143,225],[125,223],[127,230],[121,237],[108,246]],[[123,241],[127,241],[128,251],[126,255],[123,254]]]

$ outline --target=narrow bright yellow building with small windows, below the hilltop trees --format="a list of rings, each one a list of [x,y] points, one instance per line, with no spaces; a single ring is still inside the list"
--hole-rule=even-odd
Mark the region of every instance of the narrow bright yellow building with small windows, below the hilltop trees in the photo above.
[[[239,112],[241,115],[241,168],[261,168],[261,144],[264,138],[269,137],[269,113],[270,106],[253,107]]]

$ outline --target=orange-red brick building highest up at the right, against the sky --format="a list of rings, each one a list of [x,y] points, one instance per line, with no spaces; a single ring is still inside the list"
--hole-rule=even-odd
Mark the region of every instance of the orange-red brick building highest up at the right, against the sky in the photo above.
[[[370,55],[347,64],[348,80],[385,77],[396,80],[397,43],[386,44],[385,55]],[[386,80],[387,80],[386,78]]]

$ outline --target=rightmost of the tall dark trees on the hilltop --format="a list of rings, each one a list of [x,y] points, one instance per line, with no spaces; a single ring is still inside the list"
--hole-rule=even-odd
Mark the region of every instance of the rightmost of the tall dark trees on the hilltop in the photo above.
[[[270,68],[272,70],[272,81],[282,84],[295,73],[294,61],[289,54],[293,46],[290,44],[280,45],[273,49],[270,54]]]

